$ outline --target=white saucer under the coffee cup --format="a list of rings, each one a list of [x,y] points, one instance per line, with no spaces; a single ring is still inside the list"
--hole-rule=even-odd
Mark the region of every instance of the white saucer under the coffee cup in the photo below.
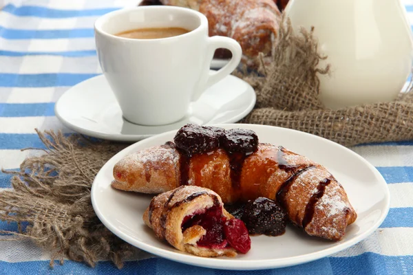
[[[189,122],[218,124],[237,122],[255,105],[251,85],[227,76],[191,103],[182,120],[162,126],[142,126],[123,119],[122,111],[105,76],[95,76],[75,85],[59,98],[56,117],[68,128],[106,140],[135,142],[151,135],[179,129]]]

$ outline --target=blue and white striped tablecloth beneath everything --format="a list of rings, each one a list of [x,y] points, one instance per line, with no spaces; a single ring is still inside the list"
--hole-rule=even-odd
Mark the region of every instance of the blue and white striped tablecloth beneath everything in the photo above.
[[[100,74],[94,21],[136,3],[0,0],[0,166],[17,169],[32,153],[21,148],[43,147],[34,128],[70,131],[54,116],[54,102],[76,83]],[[403,3],[413,22],[413,1]],[[123,270],[105,261],[95,268],[65,261],[51,269],[50,254],[31,241],[0,241],[0,274],[413,274],[413,141],[352,150],[376,166],[387,181],[391,209],[368,239],[328,258],[251,272],[211,270],[156,257],[129,261]],[[6,188],[10,176],[0,173],[0,192]],[[0,221],[0,230],[17,230],[17,225]]]

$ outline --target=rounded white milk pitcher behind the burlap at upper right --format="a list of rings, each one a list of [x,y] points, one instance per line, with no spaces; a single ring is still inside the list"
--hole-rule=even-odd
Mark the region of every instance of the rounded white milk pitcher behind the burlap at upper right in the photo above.
[[[320,76],[326,107],[394,100],[412,67],[413,39],[401,0],[290,0],[295,30],[315,27],[329,76]]]

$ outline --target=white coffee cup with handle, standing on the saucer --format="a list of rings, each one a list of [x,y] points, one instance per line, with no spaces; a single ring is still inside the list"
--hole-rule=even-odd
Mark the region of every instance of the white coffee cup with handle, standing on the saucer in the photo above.
[[[189,32],[162,39],[115,35],[143,28],[184,28]],[[136,124],[161,125],[182,119],[189,103],[231,74],[242,56],[237,41],[209,37],[207,17],[187,8],[142,6],[116,10],[100,17],[94,29],[103,74],[123,117]],[[218,72],[210,73],[218,48],[230,50],[232,58]]]

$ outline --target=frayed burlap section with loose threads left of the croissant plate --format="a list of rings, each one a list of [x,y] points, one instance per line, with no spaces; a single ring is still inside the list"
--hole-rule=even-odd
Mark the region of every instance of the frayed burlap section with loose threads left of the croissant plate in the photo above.
[[[0,219],[17,222],[19,233],[1,233],[13,234],[14,240],[31,239],[50,251],[51,266],[55,259],[63,263],[67,257],[92,267],[109,259],[122,267],[136,248],[99,221],[90,189],[98,170],[125,144],[92,142],[77,134],[37,133],[47,148],[43,155],[25,159],[19,172],[3,170],[14,176],[13,189],[0,192]]]

